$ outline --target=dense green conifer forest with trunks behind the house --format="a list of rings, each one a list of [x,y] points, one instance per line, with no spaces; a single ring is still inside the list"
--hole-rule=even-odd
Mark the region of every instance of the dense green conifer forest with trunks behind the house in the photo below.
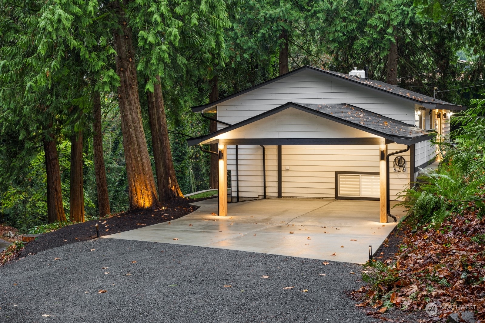
[[[481,0],[0,0],[0,222],[216,188],[186,142],[215,123],[190,108],[303,65],[480,104],[483,15]]]

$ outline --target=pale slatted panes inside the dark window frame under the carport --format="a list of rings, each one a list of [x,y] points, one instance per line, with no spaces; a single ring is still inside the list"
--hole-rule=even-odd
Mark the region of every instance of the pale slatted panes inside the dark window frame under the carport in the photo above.
[[[379,175],[339,174],[338,181],[339,197],[379,197]]]

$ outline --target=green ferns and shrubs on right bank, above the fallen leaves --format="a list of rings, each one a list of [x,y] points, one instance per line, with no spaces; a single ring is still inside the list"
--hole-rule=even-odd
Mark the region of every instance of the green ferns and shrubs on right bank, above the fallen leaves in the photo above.
[[[484,192],[485,173],[485,100],[453,117],[460,127],[449,138],[436,138],[441,162],[436,170],[422,171],[417,187],[404,191],[399,205],[408,209],[407,218],[417,225],[439,226],[452,212],[460,212],[475,201],[477,216],[485,213],[479,197]]]

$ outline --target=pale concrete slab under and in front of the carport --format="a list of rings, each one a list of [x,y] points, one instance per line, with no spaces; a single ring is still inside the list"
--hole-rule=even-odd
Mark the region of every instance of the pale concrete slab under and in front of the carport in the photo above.
[[[170,223],[103,238],[363,263],[368,246],[377,250],[396,225],[378,222],[378,201],[254,200],[228,204],[226,217],[212,215],[217,199],[194,204],[200,208]]]

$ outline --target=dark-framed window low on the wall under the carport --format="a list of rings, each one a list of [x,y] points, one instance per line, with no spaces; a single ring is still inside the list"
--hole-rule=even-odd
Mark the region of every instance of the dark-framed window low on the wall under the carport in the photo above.
[[[378,172],[335,172],[335,198],[346,200],[379,200]]]

